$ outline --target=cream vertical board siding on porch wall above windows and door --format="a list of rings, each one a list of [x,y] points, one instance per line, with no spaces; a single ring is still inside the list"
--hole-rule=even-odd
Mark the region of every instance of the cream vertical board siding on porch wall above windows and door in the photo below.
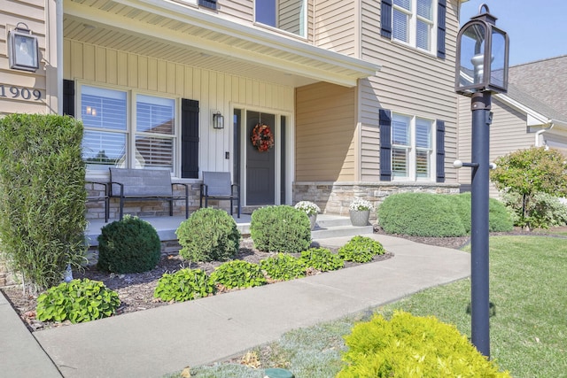
[[[232,150],[231,104],[293,112],[294,92],[268,82],[219,73],[88,43],[65,40],[65,79],[90,85],[119,86],[156,96],[183,97],[199,102],[199,167],[229,171],[225,151]],[[97,51],[97,57],[94,56]],[[105,57],[98,57],[98,54]],[[88,69],[87,69],[88,68]],[[225,117],[225,128],[213,129],[213,112]]]

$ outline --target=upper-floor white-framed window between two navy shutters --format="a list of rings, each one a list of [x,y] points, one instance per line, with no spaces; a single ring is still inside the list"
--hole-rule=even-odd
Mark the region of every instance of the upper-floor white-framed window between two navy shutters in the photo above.
[[[433,52],[434,4],[433,0],[393,0],[392,39]]]

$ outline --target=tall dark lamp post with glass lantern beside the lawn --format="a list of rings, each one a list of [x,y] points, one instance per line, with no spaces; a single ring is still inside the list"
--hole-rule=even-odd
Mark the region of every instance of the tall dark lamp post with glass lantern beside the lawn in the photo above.
[[[457,37],[455,91],[470,96],[472,111],[471,181],[471,336],[478,351],[490,357],[488,196],[491,96],[508,90],[509,39],[495,27],[496,18],[482,4],[479,14],[462,26]]]

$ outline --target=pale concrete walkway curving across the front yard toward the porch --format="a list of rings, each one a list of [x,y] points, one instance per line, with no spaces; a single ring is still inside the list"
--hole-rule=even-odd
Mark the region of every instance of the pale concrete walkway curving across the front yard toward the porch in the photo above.
[[[468,253],[392,236],[371,237],[394,257],[33,335],[12,307],[0,302],[0,372],[50,377],[58,376],[58,369],[65,377],[160,377],[470,274]],[[332,247],[348,239],[315,242]]]

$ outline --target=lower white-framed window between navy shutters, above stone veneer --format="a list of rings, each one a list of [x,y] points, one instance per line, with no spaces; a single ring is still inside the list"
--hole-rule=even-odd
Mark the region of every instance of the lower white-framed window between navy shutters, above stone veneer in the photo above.
[[[393,180],[433,180],[434,124],[433,120],[392,114]]]

